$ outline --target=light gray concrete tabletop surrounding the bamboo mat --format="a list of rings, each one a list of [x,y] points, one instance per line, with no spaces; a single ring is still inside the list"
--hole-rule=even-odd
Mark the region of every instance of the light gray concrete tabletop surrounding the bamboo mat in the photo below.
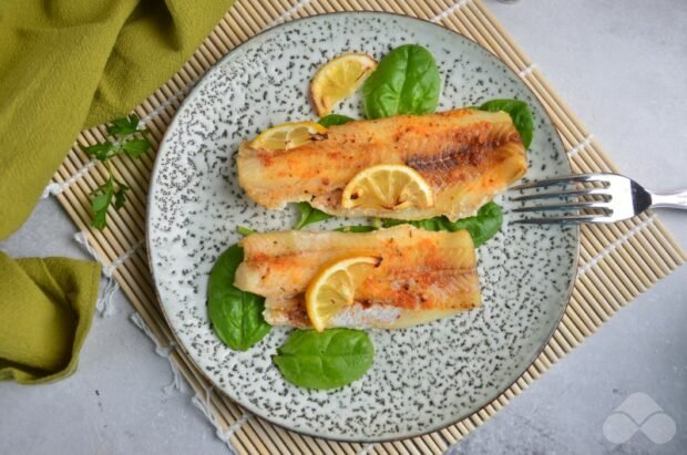
[[[687,187],[687,1],[485,2],[624,173],[652,188]],[[687,214],[662,217],[687,246]],[[16,256],[85,257],[73,232],[48,199],[0,248]],[[687,453],[686,303],[681,268],[452,452]],[[1,454],[227,452],[187,390],[162,391],[172,381],[170,368],[129,321],[132,308],[121,292],[115,307],[115,316],[96,317],[76,374],[50,385],[0,384]],[[645,435],[657,436],[652,417],[645,433],[625,443],[604,436],[606,418],[638,392],[675,423],[670,441],[656,444]],[[659,423],[654,426],[669,431]]]

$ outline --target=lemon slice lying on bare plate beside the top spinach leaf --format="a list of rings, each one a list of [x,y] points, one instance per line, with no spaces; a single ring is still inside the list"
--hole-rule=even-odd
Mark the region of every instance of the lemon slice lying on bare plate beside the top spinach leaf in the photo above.
[[[376,68],[377,61],[370,55],[348,53],[317,70],[310,81],[310,101],[317,115],[329,114],[335,104],[353,93]]]

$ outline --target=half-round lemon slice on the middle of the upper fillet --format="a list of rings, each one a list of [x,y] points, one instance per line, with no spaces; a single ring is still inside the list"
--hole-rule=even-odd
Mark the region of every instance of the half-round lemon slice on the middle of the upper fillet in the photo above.
[[[381,164],[360,170],[341,195],[344,208],[402,210],[433,205],[432,187],[417,170],[400,164]]]

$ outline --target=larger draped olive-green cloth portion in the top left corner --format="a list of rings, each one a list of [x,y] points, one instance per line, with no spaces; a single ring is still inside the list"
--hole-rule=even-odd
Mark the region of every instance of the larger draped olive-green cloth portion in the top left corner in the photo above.
[[[21,226],[85,126],[130,112],[230,0],[0,2],[0,238]]]

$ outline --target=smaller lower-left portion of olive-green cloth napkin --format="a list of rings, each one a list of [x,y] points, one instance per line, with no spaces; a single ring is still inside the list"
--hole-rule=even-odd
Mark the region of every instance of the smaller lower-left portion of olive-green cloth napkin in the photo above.
[[[99,280],[95,262],[0,251],[0,380],[48,382],[76,369]]]

